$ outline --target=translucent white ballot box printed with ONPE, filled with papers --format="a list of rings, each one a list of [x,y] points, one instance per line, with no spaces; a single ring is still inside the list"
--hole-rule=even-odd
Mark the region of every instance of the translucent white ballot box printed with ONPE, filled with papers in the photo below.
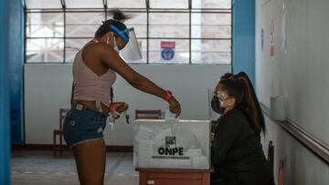
[[[209,169],[210,121],[135,120],[133,164],[135,168]]]

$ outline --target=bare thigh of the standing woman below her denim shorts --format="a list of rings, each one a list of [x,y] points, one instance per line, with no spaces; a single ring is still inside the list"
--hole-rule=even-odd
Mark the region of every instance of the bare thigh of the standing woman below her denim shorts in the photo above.
[[[73,147],[81,185],[102,185],[104,182],[106,148],[103,139]]]

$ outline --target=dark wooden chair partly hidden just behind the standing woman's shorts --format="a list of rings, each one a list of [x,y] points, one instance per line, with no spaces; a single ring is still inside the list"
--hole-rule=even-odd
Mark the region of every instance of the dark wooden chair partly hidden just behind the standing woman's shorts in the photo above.
[[[53,133],[53,153],[54,158],[56,158],[56,153],[62,153],[65,150],[68,150],[67,147],[63,145],[63,122],[65,115],[69,112],[69,109],[59,108],[59,129],[54,129]],[[59,144],[57,144],[57,136],[59,137]]]

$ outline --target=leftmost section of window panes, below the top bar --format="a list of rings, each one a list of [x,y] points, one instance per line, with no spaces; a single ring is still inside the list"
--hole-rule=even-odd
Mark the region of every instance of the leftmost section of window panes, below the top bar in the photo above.
[[[64,61],[64,14],[27,14],[27,62]]]

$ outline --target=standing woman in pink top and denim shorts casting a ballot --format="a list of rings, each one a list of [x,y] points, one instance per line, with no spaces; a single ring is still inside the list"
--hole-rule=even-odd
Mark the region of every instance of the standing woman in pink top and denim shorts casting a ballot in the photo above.
[[[95,37],[81,48],[73,63],[73,103],[64,121],[64,139],[73,150],[80,184],[103,184],[106,148],[103,130],[108,113],[122,113],[123,102],[111,103],[110,94],[116,74],[133,87],[163,98],[176,117],[181,108],[172,93],[129,67],[119,50],[129,42],[129,29],[123,24],[126,16],[113,11],[113,19],[105,21]]]

